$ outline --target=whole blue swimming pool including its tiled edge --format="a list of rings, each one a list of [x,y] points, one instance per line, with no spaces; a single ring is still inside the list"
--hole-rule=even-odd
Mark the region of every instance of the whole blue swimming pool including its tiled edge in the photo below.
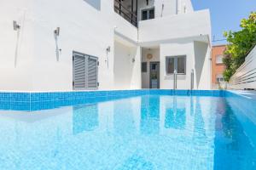
[[[256,110],[246,99],[104,93],[2,94],[0,169],[256,169]]]

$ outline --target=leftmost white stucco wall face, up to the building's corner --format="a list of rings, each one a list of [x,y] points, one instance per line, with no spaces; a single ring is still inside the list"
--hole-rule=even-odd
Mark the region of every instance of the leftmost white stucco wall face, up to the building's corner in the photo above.
[[[32,14],[30,0],[0,1],[0,89],[32,88],[32,54],[34,40],[32,23],[24,20]],[[13,20],[21,26],[14,31]],[[26,32],[30,32],[27,34]],[[28,48],[29,47],[29,48]]]

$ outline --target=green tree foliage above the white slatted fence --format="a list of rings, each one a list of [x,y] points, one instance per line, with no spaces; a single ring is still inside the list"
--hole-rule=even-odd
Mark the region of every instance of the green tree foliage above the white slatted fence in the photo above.
[[[229,81],[236,69],[244,62],[247,53],[256,45],[256,12],[248,19],[241,20],[241,31],[225,31],[227,48],[225,50],[224,80]]]

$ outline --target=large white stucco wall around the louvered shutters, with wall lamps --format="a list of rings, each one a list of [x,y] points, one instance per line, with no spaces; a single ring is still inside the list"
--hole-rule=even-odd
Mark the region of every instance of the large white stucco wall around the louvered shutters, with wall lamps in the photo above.
[[[137,42],[137,28],[115,14],[108,0],[3,0],[0,15],[2,90],[73,90],[73,50],[98,57],[99,89],[113,89],[114,34]],[[20,24],[16,66],[13,20]],[[59,59],[53,33],[57,26]],[[141,88],[131,75],[132,87]]]

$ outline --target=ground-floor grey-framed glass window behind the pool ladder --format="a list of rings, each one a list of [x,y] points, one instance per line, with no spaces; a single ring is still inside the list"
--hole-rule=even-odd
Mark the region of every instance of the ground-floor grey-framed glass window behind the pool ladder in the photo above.
[[[166,74],[186,74],[186,56],[166,57]]]

